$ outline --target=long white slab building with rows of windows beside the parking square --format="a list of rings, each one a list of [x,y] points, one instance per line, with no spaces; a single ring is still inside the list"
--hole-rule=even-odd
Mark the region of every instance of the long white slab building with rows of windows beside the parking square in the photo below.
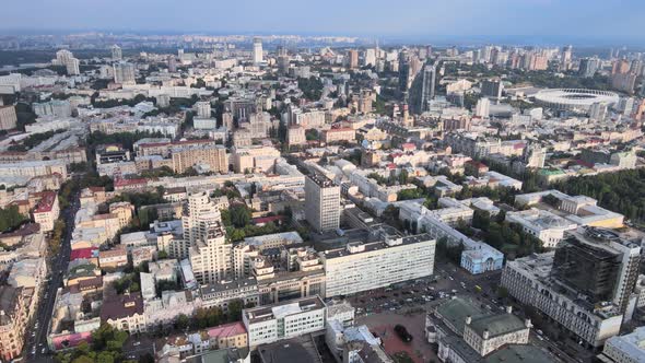
[[[379,231],[379,242],[350,243],[320,253],[326,296],[350,295],[432,274],[436,241],[429,234],[391,232]]]

